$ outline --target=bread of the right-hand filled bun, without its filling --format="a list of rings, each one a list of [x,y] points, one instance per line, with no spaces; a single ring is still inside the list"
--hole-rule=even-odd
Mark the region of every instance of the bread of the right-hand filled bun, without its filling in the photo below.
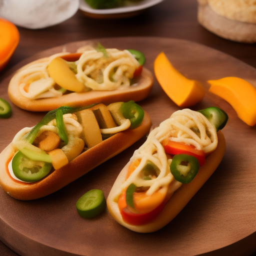
[[[199,168],[199,171],[193,180],[190,183],[182,184],[181,187],[172,194],[162,212],[152,222],[144,225],[130,225],[124,222],[117,203],[113,201],[115,196],[114,191],[118,189],[119,185],[125,180],[128,166],[130,164],[130,162],[128,162],[116,178],[106,200],[108,210],[113,218],[121,225],[141,233],[156,231],[169,223],[183,209],[183,207],[200,189],[220,163],[225,152],[225,139],[221,131],[218,131],[217,136],[218,144],[216,149],[207,156],[205,163]]]

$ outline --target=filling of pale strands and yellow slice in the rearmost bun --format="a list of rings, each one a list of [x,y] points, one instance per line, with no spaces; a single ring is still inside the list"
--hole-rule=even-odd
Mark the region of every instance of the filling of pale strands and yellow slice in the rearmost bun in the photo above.
[[[65,61],[67,54],[57,53],[21,69],[17,73],[21,94],[37,99],[70,92],[122,89],[135,84],[132,78],[142,70],[128,50],[88,49],[76,61]]]

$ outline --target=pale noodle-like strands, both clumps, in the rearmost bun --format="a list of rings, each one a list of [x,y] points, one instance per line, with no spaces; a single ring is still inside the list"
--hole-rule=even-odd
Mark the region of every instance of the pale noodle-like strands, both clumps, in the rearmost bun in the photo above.
[[[114,90],[127,88],[133,77],[138,61],[128,50],[106,49],[107,56],[95,49],[88,49],[75,62],[76,78],[92,90]],[[47,66],[56,57],[69,54],[61,52],[39,63],[31,63],[22,68],[16,76],[20,93],[29,99],[59,97],[63,90],[55,89],[55,81],[49,76]]]

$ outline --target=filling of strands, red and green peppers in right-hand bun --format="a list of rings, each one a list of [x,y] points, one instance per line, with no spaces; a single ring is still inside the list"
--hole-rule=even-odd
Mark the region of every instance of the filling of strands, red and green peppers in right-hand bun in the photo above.
[[[216,146],[216,127],[200,112],[178,110],[161,122],[135,150],[114,195],[123,221],[140,225],[155,218]]]

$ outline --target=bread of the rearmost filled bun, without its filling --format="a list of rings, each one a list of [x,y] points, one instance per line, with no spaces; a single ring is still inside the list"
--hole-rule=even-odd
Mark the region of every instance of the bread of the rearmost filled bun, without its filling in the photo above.
[[[47,60],[47,58],[41,58],[31,63],[39,63],[45,60]],[[49,111],[63,105],[83,106],[95,102],[109,104],[117,101],[139,101],[147,97],[153,85],[152,73],[148,69],[143,68],[137,81],[137,85],[132,85],[125,89],[116,89],[110,91],[90,90],[80,93],[71,92],[60,97],[29,99],[24,97],[19,90],[19,80],[17,74],[20,70],[23,70],[31,63],[17,70],[17,72],[11,78],[8,86],[8,95],[10,100],[18,107],[29,111]]]

